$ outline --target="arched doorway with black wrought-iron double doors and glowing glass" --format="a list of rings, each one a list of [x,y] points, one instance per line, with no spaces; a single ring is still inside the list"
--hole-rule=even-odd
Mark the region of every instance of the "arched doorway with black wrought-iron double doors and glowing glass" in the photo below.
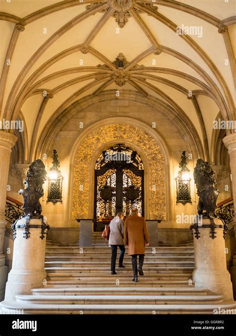
[[[144,169],[140,155],[121,143],[104,150],[95,166],[94,219],[127,218],[133,207],[144,216]]]

